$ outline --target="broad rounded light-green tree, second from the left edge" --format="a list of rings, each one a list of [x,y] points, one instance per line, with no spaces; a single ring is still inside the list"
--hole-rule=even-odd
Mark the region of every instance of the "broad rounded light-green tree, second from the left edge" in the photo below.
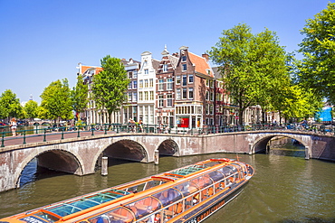
[[[44,88],[41,98],[39,109],[41,118],[55,121],[56,119],[73,118],[71,89],[67,79],[53,81],[47,88]]]

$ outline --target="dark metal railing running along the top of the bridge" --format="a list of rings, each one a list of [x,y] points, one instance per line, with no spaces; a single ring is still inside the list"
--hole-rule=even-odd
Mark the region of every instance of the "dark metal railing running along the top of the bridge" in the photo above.
[[[333,125],[314,123],[302,124],[253,124],[253,125],[222,125],[204,128],[173,127],[168,125],[139,124],[92,124],[92,125],[25,125],[18,127],[12,136],[10,127],[0,128],[1,147],[10,144],[26,144],[29,142],[47,142],[64,138],[74,138],[87,135],[107,135],[108,133],[153,133],[178,135],[213,135],[244,131],[290,130],[334,135]]]

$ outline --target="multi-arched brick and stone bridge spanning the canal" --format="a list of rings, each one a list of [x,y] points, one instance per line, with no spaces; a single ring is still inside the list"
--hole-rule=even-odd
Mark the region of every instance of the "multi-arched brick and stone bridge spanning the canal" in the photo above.
[[[157,163],[159,155],[257,153],[275,136],[305,146],[305,158],[335,161],[335,137],[292,131],[249,131],[215,135],[108,134],[90,135],[0,148],[0,191],[18,188],[24,167],[37,158],[38,166],[77,175],[94,173],[102,156]]]

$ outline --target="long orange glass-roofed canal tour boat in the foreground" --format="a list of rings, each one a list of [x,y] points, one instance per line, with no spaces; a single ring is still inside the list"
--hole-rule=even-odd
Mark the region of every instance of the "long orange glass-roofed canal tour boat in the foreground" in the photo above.
[[[0,223],[197,223],[233,200],[253,175],[247,163],[209,159],[2,218]]]

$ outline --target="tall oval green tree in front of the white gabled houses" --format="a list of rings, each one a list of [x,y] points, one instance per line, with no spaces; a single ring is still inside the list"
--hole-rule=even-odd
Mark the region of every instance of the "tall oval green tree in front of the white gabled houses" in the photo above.
[[[103,70],[93,76],[92,93],[97,107],[106,108],[111,117],[126,100],[129,79],[118,58],[107,55],[101,60],[101,67]]]

